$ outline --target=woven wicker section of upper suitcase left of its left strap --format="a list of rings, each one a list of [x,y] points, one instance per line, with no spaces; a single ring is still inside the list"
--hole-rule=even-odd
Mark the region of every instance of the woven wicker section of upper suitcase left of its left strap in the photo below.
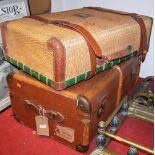
[[[8,56],[49,79],[54,79],[53,51],[47,49],[47,40],[53,36],[63,42],[67,51],[66,80],[91,70],[87,44],[83,37],[74,31],[22,19],[9,23],[7,34]]]

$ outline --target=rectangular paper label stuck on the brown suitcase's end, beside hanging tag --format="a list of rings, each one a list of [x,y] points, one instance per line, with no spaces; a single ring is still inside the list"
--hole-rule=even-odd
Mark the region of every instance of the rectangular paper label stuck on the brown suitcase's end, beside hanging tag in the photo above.
[[[55,135],[69,141],[70,143],[74,142],[74,132],[74,129],[62,127],[60,125],[57,125],[55,129]]]

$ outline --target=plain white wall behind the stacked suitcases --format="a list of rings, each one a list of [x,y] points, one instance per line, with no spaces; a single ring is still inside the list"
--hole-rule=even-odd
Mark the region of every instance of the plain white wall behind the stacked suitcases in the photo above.
[[[154,17],[154,0],[53,0],[53,8],[57,8],[56,11],[70,10],[83,6],[99,6],[127,12],[136,12],[139,14]],[[154,75],[153,34],[154,30],[152,31],[151,35],[149,52],[147,54],[145,62],[141,67],[141,77]]]

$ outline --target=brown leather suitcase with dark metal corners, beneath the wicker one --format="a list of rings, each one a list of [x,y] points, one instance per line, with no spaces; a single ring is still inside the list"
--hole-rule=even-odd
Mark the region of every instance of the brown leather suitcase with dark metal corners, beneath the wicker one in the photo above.
[[[132,58],[62,91],[51,89],[23,71],[9,74],[13,114],[34,130],[36,116],[44,116],[50,137],[78,151],[87,151],[98,122],[111,118],[136,84],[140,62],[140,57]]]

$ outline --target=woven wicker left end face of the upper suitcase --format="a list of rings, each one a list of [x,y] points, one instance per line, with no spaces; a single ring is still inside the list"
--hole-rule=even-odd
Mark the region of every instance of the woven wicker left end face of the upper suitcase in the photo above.
[[[19,21],[18,21],[19,22]],[[32,23],[32,27],[30,27]],[[22,62],[26,66],[37,70],[39,73],[45,74],[53,79],[53,53],[47,48],[47,39],[49,36],[41,33],[40,29],[36,29],[36,23],[33,21],[25,21],[25,28],[22,24],[16,26],[15,23],[8,25],[7,48],[9,56],[17,61]],[[33,31],[35,29],[35,31]],[[44,37],[42,37],[44,36]]]

